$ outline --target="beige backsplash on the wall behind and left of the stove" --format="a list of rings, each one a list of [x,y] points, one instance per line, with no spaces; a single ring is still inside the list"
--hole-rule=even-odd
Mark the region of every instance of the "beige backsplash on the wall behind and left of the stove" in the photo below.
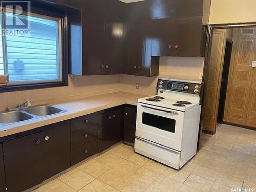
[[[159,77],[201,81],[203,57],[160,57]],[[158,77],[120,75],[120,90],[144,95],[155,95]],[[139,83],[139,89],[136,89]]]

